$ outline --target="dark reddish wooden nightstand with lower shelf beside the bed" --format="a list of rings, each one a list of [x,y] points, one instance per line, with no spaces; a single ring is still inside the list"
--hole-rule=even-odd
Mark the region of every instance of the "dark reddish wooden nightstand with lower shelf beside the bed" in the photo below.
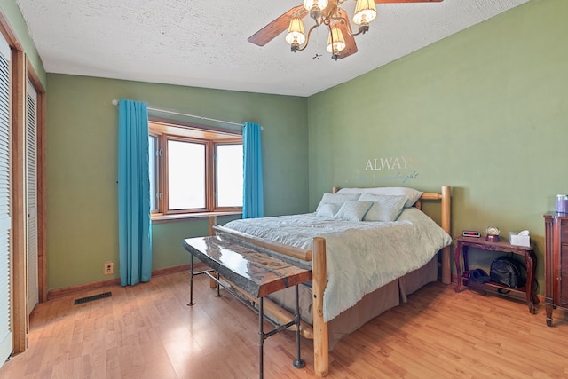
[[[536,304],[539,304],[539,298],[536,296],[536,255],[534,254],[533,244],[530,247],[511,245],[509,241],[501,239],[501,241],[485,241],[483,237],[458,237],[455,239],[454,260],[457,270],[458,281],[455,285],[455,292],[461,292],[462,287],[469,286],[469,265],[468,265],[468,249],[477,248],[488,251],[502,251],[504,253],[514,253],[525,257],[526,266],[526,285],[525,287],[511,288],[503,286],[494,281],[486,284],[475,284],[475,286],[489,286],[493,288],[507,289],[514,293],[525,294],[526,304],[529,312],[536,313]],[[463,271],[461,270],[461,259],[463,257]]]

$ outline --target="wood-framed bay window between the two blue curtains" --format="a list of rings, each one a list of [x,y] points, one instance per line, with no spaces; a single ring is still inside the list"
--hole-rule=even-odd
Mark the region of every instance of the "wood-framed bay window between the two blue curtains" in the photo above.
[[[150,121],[150,191],[155,216],[242,209],[242,136]]]

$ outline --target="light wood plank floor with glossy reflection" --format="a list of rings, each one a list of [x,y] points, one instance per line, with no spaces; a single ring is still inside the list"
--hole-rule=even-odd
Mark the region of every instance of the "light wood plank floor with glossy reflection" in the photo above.
[[[186,272],[67,296],[36,307],[29,349],[0,369],[0,378],[256,378],[257,318],[232,296],[217,298],[204,277],[187,307]],[[113,296],[74,305],[104,291]],[[526,304],[432,283],[344,338],[331,352],[330,378],[568,377],[568,317],[554,327]],[[292,367],[294,335],[264,344],[264,377],[313,377]]]

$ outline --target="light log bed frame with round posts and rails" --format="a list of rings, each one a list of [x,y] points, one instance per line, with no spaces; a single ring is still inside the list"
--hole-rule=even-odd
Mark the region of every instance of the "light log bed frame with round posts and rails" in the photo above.
[[[422,201],[441,201],[441,218],[440,226],[451,235],[451,187],[442,186],[441,193],[423,193],[421,198],[416,201],[415,207],[422,209]],[[337,188],[333,188],[333,192],[337,192]],[[308,264],[312,262],[312,300],[313,300],[313,326],[301,322],[300,333],[304,338],[313,340],[313,366],[314,373],[318,376],[326,376],[329,371],[329,337],[327,330],[327,322],[323,319],[323,293],[327,284],[327,261],[326,261],[326,240],[324,238],[316,237],[312,240],[312,250],[299,249],[296,247],[283,245],[281,243],[267,241],[246,233],[233,231],[232,229],[225,228],[217,225],[217,217],[209,217],[209,235],[214,234],[227,234],[238,240],[244,241],[248,244],[258,246],[263,249],[269,249],[279,254],[296,259],[304,260]],[[450,246],[441,250],[441,277],[440,280],[444,284],[451,282],[451,267],[450,267]],[[225,278],[224,278],[225,279]],[[230,283],[232,284],[232,283]],[[217,288],[217,283],[210,280],[209,287]],[[238,291],[241,296],[250,302],[256,302],[256,299],[251,298],[245,291],[239,290],[238,287],[233,287]],[[294,320],[294,315],[287,310],[280,307],[280,305],[270,301],[268,298],[264,299],[264,310],[272,315],[272,319],[286,324]],[[291,328],[295,328],[294,326]]]

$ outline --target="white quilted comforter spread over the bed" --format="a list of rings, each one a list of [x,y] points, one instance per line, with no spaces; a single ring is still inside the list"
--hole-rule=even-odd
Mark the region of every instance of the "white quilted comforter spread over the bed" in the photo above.
[[[415,208],[404,209],[395,222],[343,221],[308,213],[234,220],[225,227],[302,249],[312,249],[313,237],[324,237],[325,321],[366,294],[425,265],[452,241],[430,217]]]

